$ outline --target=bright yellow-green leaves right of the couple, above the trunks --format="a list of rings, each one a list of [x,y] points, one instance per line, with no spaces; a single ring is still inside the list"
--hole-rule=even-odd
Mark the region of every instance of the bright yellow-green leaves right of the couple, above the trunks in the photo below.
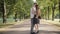
[[[55,5],[55,16],[56,16],[56,14],[58,14],[58,3],[59,2],[59,0],[37,0],[37,3],[38,3],[38,5],[39,5],[39,7],[40,7],[40,9],[42,10],[42,14],[46,14],[47,15],[47,11],[48,11],[48,6],[50,7],[49,8],[49,15],[52,15],[52,7],[54,7],[54,5]]]

